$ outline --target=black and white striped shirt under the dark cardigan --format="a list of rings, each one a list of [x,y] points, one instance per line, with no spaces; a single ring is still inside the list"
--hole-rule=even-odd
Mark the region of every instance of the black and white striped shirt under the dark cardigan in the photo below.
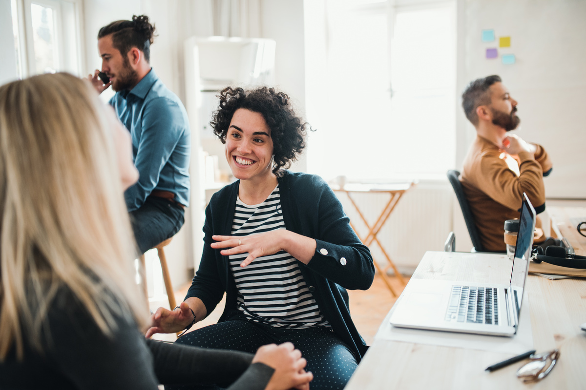
[[[279,186],[259,205],[246,205],[236,199],[231,234],[250,234],[285,229]],[[230,256],[230,270],[236,281],[238,308],[249,320],[276,327],[302,329],[329,326],[309,292],[298,260],[285,251],[258,257],[246,267],[240,263],[248,256]]]

